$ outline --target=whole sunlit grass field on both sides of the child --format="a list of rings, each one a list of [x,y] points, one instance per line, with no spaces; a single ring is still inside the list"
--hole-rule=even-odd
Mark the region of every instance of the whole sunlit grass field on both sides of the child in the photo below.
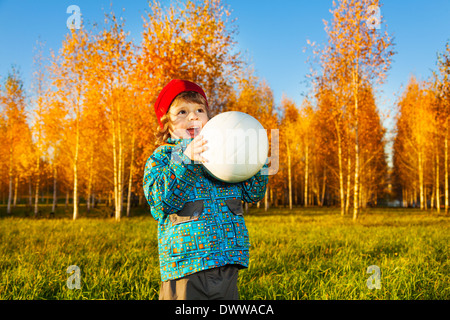
[[[0,299],[157,299],[156,222],[149,215],[0,218]],[[241,299],[450,299],[450,218],[370,209],[253,209]],[[67,287],[71,265],[81,288]],[[370,265],[381,289],[368,289]]]

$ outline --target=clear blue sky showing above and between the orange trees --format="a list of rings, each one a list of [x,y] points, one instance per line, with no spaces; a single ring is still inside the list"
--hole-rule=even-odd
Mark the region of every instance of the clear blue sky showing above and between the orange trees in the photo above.
[[[168,3],[168,0],[162,0]],[[76,4],[83,19],[102,22],[110,0],[0,0],[0,77],[11,64],[20,67],[29,87],[33,46],[40,37],[46,49],[58,50],[68,29],[66,9]],[[306,40],[325,42],[323,19],[330,20],[331,0],[226,0],[237,18],[239,49],[252,62],[257,75],[274,90],[275,100],[282,94],[301,104],[307,91],[304,80],[309,51]],[[449,0],[384,0],[381,8],[388,31],[395,36],[397,55],[386,83],[380,88],[379,109],[394,112],[396,95],[410,75],[426,79],[435,69],[436,53],[450,40]],[[104,8],[104,10],[103,10]],[[125,11],[122,12],[122,8]],[[116,14],[126,19],[130,36],[141,39],[142,19],[148,5],[145,0],[113,1]],[[1,80],[0,80],[1,81]],[[392,120],[385,121],[392,127]]]

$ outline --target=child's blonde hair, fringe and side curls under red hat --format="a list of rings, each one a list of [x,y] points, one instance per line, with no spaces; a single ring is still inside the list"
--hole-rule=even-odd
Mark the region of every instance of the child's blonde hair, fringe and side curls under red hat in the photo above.
[[[175,97],[175,99],[170,104],[170,107],[167,110],[167,113],[161,117],[162,128],[160,126],[158,126],[158,128],[155,132],[155,137],[156,137],[155,144],[157,146],[161,146],[161,145],[167,143],[167,139],[170,138],[170,130],[169,129],[170,129],[170,126],[172,125],[172,123],[170,121],[169,110],[170,110],[170,108],[177,106],[180,102],[197,103],[197,104],[201,104],[201,105],[205,106],[206,114],[207,114],[208,118],[210,118],[208,104],[207,104],[205,98],[200,93],[195,92],[195,91],[185,91],[185,92],[180,93],[179,95],[177,95]]]

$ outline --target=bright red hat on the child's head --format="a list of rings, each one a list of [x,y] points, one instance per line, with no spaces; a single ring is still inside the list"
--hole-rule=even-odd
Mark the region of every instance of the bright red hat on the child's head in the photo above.
[[[167,110],[169,110],[169,107],[176,96],[185,91],[194,91],[200,93],[203,98],[205,98],[206,107],[208,107],[208,100],[206,99],[205,92],[202,88],[200,88],[197,84],[187,80],[174,79],[161,90],[158,95],[158,99],[156,99],[155,102],[156,118],[158,118],[158,123],[161,129],[163,128],[161,118],[167,113]]]

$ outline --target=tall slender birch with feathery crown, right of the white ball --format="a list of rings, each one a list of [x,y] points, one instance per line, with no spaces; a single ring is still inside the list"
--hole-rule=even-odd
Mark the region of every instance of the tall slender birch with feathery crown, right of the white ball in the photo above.
[[[330,10],[333,18],[331,23],[325,22],[328,50],[322,59],[324,72],[328,79],[346,88],[353,99],[354,220],[359,212],[359,92],[365,82],[382,83],[394,55],[392,38],[381,16],[375,17],[375,26],[371,25],[373,11],[379,10],[379,1],[340,0],[337,4],[333,1]]]

